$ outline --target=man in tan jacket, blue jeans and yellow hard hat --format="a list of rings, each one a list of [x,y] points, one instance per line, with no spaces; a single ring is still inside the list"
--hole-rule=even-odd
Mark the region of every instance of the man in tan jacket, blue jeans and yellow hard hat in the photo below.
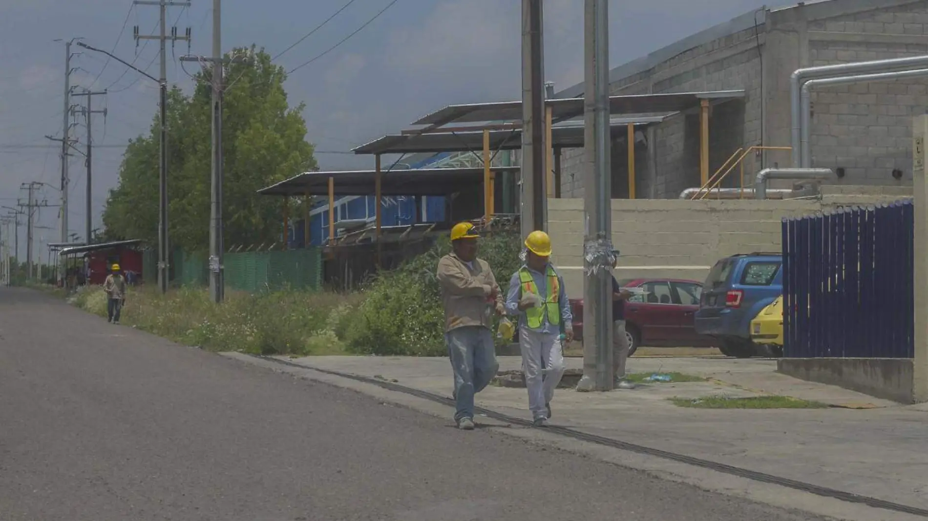
[[[438,261],[438,282],[445,308],[445,344],[455,375],[455,422],[472,430],[473,397],[496,376],[499,364],[493,345],[493,314],[504,313],[503,298],[490,265],[477,258],[473,224],[451,229],[452,252]]]

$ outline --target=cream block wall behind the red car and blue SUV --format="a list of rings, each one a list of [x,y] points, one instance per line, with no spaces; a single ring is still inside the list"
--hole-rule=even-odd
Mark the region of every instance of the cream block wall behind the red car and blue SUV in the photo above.
[[[821,210],[814,200],[613,199],[616,276],[702,281],[715,261],[735,253],[780,251],[780,220]],[[582,199],[550,199],[553,261],[572,299],[583,296]]]

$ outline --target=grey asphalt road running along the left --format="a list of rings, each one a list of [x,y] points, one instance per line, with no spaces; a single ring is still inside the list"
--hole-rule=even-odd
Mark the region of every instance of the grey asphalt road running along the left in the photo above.
[[[0,520],[817,519],[0,288]]]

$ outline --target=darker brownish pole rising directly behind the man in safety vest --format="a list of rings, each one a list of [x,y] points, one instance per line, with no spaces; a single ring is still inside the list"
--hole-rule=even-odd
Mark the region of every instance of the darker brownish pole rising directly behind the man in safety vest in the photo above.
[[[548,229],[542,0],[522,0],[522,236]]]

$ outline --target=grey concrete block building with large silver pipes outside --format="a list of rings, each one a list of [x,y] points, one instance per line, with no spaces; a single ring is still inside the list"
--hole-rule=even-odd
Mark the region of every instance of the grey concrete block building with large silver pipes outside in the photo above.
[[[739,148],[790,146],[790,75],[803,67],[928,54],[928,0],[822,0],[762,8],[611,71],[612,95],[743,90],[712,107],[709,172]],[[911,125],[928,106],[928,79],[812,91],[814,167],[841,169],[828,183],[911,184]],[[555,97],[583,95],[582,83]],[[669,115],[636,140],[636,196],[678,197],[700,185],[699,109]],[[612,146],[612,197],[628,197],[627,147]],[[791,166],[788,150],[744,161],[745,184],[766,167]],[[565,150],[561,197],[583,197],[582,150]],[[736,167],[723,186],[738,187]]]

